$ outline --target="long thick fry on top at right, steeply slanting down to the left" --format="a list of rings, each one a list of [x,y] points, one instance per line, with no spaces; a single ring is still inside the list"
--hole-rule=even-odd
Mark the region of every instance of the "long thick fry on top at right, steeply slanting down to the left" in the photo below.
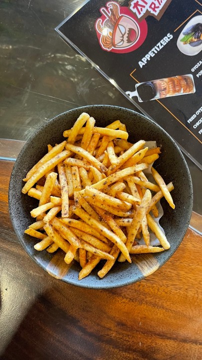
[[[147,212],[147,209],[148,209],[149,204],[151,202],[151,198],[152,198],[151,191],[149,189],[147,189],[145,191],[145,194],[144,194],[143,198],[142,198],[141,205],[137,206],[136,214],[135,214],[135,216],[133,218],[133,221],[131,223],[129,234],[128,234],[127,241],[126,241],[126,247],[127,247],[129,252],[130,252],[130,249],[131,249],[131,247],[133,245],[133,242],[135,240],[137,231],[138,231],[138,229],[140,227],[140,224],[141,224],[141,222],[143,220],[143,217]],[[119,257],[119,261],[125,261],[124,256],[122,254]]]

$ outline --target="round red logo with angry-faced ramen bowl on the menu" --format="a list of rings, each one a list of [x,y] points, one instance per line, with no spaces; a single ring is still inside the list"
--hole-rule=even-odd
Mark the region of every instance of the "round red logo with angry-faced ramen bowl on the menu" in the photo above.
[[[145,20],[138,23],[127,7],[120,7],[116,2],[102,7],[102,16],[96,20],[95,29],[103,50],[112,52],[130,52],[138,48],[147,36]]]

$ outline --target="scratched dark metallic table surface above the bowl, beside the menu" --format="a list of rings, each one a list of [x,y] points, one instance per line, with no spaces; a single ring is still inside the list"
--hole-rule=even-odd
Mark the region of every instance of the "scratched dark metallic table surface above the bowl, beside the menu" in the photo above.
[[[54,30],[82,2],[0,1],[1,138],[26,141],[56,114],[85,104],[136,109]],[[6,157],[5,152],[1,143],[0,156]],[[194,210],[202,214],[202,171],[186,159],[194,183]]]

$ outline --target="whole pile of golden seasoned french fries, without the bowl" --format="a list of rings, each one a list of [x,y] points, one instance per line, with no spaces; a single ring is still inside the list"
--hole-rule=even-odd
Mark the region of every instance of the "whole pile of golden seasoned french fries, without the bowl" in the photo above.
[[[160,147],[148,148],[144,139],[129,142],[119,120],[106,127],[95,122],[83,112],[63,131],[66,140],[47,144],[47,153],[27,172],[22,187],[22,193],[38,200],[30,211],[36,222],[24,232],[38,239],[36,250],[61,248],[66,263],[79,262],[79,280],[99,262],[102,278],[116,261],[130,263],[133,254],[170,248],[155,219],[156,205],[165,197],[175,208],[173,183],[166,184],[154,165]],[[144,170],[149,166],[148,179]],[[152,245],[151,232],[158,246]]]

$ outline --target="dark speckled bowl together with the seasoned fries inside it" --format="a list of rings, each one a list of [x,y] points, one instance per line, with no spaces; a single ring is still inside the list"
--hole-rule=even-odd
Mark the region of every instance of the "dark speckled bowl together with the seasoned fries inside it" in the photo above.
[[[193,188],[181,150],[157,123],[89,105],[59,114],[26,142],[8,200],[38,265],[70,284],[109,288],[145,278],[172,256]]]

